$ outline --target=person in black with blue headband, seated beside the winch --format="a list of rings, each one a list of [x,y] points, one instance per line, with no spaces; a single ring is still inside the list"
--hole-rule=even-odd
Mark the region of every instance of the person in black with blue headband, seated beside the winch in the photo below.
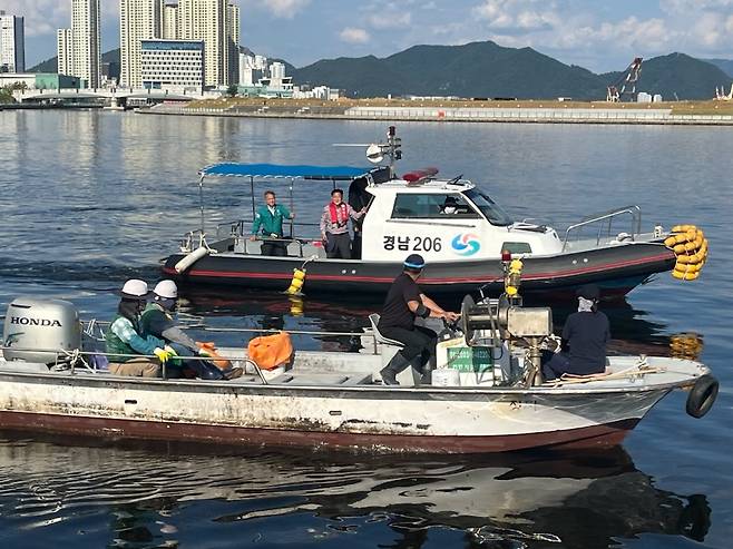
[[[387,293],[377,329],[384,336],[403,343],[404,346],[394,355],[380,372],[385,385],[399,385],[397,374],[409,365],[413,365],[423,375],[430,371],[426,366],[432,362],[436,354],[438,335],[430,329],[417,326],[416,318],[432,317],[456,322],[457,313],[444,311],[434,301],[422,293],[418,278],[422,274],[426,262],[419,254],[411,254],[403,263],[403,271]]]

